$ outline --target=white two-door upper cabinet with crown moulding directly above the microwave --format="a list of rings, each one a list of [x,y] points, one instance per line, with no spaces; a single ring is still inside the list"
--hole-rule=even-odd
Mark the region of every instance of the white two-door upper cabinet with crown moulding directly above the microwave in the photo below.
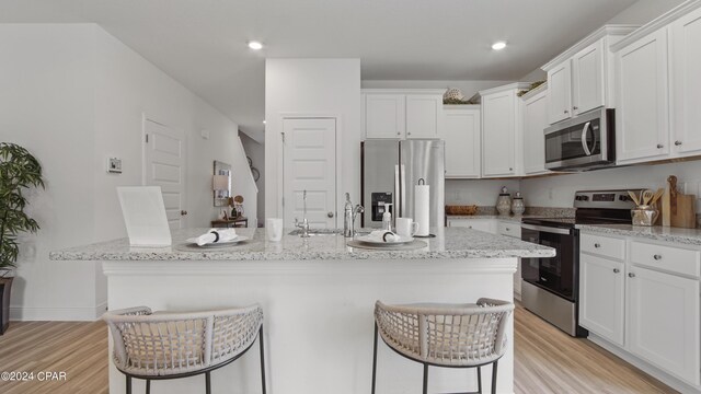
[[[600,106],[613,106],[613,57],[609,46],[636,27],[604,26],[542,67],[548,72],[550,124]]]

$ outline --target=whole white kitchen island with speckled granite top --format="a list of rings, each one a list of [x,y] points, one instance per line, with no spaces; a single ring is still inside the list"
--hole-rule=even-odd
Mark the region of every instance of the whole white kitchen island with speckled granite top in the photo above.
[[[56,260],[102,262],[111,310],[147,305],[187,311],[260,303],[266,374],[272,394],[355,394],[370,391],[374,305],[413,302],[513,300],[520,257],[554,256],[554,250],[471,229],[440,228],[426,247],[374,251],[346,246],[342,235],[265,240],[263,229],[240,229],[238,246],[198,248],[186,239],[206,229],[173,233],[165,248],[131,248],[117,240],[54,252]],[[497,389],[513,393],[513,320]],[[111,361],[112,362],[112,361]],[[483,373],[491,373],[483,368]],[[486,375],[485,375],[486,376]],[[110,391],[124,392],[124,375],[110,368]],[[489,391],[490,379],[484,379]],[[135,392],[142,392],[135,381]],[[381,344],[378,393],[421,391],[422,366]],[[212,373],[215,393],[260,393],[258,356],[251,351]],[[473,370],[432,368],[430,392],[476,387]],[[158,381],[152,393],[198,393],[204,376]]]

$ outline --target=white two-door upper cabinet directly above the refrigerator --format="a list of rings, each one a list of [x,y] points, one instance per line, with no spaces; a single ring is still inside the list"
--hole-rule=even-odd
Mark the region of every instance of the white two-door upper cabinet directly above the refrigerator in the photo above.
[[[443,91],[363,91],[365,137],[404,139],[443,137]]]

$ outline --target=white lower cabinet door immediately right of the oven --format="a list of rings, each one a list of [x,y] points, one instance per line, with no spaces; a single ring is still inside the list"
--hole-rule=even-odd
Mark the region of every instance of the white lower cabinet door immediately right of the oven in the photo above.
[[[579,256],[579,325],[623,346],[623,263]]]

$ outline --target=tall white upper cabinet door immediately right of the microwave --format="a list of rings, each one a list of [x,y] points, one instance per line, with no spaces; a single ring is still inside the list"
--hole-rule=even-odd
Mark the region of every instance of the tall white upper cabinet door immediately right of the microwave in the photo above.
[[[667,30],[655,32],[617,55],[618,161],[663,159],[669,153]]]

